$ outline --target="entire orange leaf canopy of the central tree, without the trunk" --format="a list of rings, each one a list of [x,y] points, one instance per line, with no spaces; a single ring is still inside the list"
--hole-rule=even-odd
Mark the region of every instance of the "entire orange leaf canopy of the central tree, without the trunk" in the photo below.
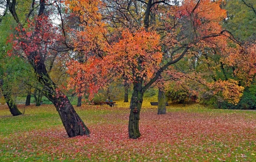
[[[223,33],[220,23],[226,17],[226,11],[220,7],[221,1],[201,0],[198,3],[195,0],[185,0],[180,6],[171,7],[159,3],[159,7],[152,8],[152,13],[159,20],[151,24],[148,32],[140,25],[137,28],[106,28],[108,23],[113,22],[101,20],[99,9],[108,6],[103,3],[98,0],[67,2],[80,20],[81,30],[70,30],[74,34],[72,40],[75,50],[83,52],[87,60],[84,63],[72,61],[67,64],[71,75],[69,87],[76,88],[76,92],[85,92],[87,89],[92,97],[93,93],[106,87],[109,81],[120,77],[128,78],[134,83],[148,83],[164,65],[163,56],[175,60],[181,56],[186,46],[190,50],[186,52],[186,56],[214,53],[213,49],[226,53],[228,48],[230,35]],[[195,7],[197,3],[198,6]],[[128,23],[122,19],[120,22]],[[161,30],[154,31],[157,28]],[[176,78],[183,82],[190,79],[212,86],[200,76],[201,73],[170,73],[174,78],[177,75]],[[223,91],[227,101],[239,101],[243,88],[237,86],[236,81],[218,81],[216,85],[218,91]],[[236,92],[227,93],[229,90]]]

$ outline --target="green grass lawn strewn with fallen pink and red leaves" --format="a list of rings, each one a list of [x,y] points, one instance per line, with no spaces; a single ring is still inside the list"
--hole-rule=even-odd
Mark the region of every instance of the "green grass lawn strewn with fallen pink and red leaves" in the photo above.
[[[13,117],[0,105],[0,161],[256,161],[256,111],[200,105],[144,105],[141,137],[128,138],[127,105],[75,107],[90,137],[68,138],[53,105],[19,105]],[[150,108],[151,107],[151,108]]]

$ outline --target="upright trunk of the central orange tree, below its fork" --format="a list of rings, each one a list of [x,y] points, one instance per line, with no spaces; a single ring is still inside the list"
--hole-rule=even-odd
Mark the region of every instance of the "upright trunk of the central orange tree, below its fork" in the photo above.
[[[134,92],[131,96],[130,116],[128,124],[129,137],[137,139],[140,137],[139,120],[140,110],[143,102],[142,84],[134,82]]]

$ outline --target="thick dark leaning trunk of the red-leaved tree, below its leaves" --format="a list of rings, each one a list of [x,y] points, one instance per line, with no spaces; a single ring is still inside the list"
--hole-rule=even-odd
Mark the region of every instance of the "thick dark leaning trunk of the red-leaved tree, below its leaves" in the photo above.
[[[38,54],[39,55],[39,54]],[[37,59],[35,53],[31,53],[28,57],[30,64],[32,64],[35,73],[38,74],[38,81],[46,87],[43,89],[45,96],[54,104],[58,111],[64,128],[69,137],[76,137],[78,135],[90,134],[89,129],[85,126],[75,109],[71,105],[69,99],[62,93],[57,85],[52,81],[47,73],[44,61]],[[38,60],[34,62],[34,60]]]

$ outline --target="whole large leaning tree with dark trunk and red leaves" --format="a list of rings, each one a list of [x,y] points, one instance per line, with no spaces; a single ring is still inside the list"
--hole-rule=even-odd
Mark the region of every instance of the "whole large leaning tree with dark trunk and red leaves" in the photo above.
[[[41,0],[39,2],[38,14],[33,19],[27,20],[27,29],[21,23],[16,13],[16,0],[7,0],[7,3],[9,5],[9,11],[18,24],[17,31],[19,38],[14,42],[14,48],[16,51],[22,52],[23,57],[32,65],[38,81],[44,87],[45,96],[54,104],[68,136],[89,135],[89,129],[76,113],[67,96],[58,89],[57,85],[49,77],[44,64],[49,54],[54,55],[58,51],[57,47],[60,45],[58,43],[64,42],[61,39],[61,32],[49,21],[50,12],[45,9],[46,1]],[[54,1],[54,3],[56,6],[59,5],[57,1]],[[32,8],[29,11],[33,12],[35,9],[34,2],[32,2]],[[29,13],[28,15],[31,16],[32,14]],[[53,48],[55,50],[52,50]]]

